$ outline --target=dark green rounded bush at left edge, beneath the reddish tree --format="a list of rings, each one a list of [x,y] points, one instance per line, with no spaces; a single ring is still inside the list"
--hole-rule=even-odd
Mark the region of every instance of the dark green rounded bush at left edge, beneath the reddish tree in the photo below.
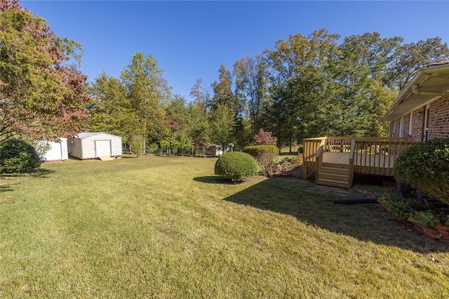
[[[41,163],[34,147],[25,141],[8,139],[0,147],[0,173],[27,173]]]

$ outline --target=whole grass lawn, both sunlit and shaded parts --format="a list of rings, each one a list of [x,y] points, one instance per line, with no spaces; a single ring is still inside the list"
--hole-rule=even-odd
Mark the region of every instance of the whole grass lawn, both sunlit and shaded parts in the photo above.
[[[216,159],[43,164],[1,176],[1,298],[449,298],[449,246],[335,205],[363,188],[242,184]]]

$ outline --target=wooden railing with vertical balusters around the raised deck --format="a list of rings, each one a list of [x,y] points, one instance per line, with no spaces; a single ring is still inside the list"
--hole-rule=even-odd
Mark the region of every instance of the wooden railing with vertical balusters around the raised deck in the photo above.
[[[321,163],[326,152],[349,154],[349,171],[394,176],[394,161],[414,142],[406,138],[377,137],[319,137],[304,139],[303,178],[307,177],[307,168],[317,167],[317,153],[322,146]],[[318,168],[318,169],[317,169]]]

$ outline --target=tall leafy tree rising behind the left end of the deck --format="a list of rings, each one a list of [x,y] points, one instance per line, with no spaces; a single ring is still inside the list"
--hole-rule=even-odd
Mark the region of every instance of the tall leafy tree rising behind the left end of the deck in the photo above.
[[[279,146],[327,130],[322,116],[328,114],[335,93],[330,65],[339,37],[320,29],[309,36],[295,34],[288,41],[276,41],[275,51],[265,51],[272,69],[268,112],[275,124],[267,129],[276,135]]]

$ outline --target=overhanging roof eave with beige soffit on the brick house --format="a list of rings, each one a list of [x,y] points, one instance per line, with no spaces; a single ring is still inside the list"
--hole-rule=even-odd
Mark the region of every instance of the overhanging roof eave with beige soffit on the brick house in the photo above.
[[[445,95],[449,95],[449,60],[419,69],[388,109],[384,121],[393,121]]]

